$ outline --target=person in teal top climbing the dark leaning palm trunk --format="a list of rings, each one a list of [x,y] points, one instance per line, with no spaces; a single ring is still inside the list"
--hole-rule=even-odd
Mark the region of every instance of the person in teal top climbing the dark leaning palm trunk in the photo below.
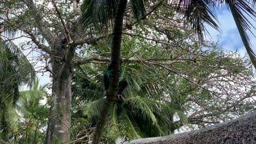
[[[115,61],[112,61],[108,65],[107,73],[104,74],[104,76],[103,76],[106,97],[108,97],[108,88],[109,88],[109,84],[110,84],[111,70],[113,68],[114,63],[115,63]],[[122,64],[123,64],[123,61],[122,61],[122,59],[120,59],[120,70],[119,70],[120,77],[123,75],[123,67],[122,67],[123,65]],[[121,113],[121,105],[124,100],[124,98],[122,96],[122,92],[124,91],[124,89],[126,88],[127,85],[128,85],[128,82],[126,79],[121,80],[118,85],[118,99],[117,99],[118,115],[120,115],[120,113]]]

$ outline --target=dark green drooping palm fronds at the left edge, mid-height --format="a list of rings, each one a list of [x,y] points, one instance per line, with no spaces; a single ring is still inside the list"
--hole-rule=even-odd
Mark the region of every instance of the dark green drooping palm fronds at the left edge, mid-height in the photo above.
[[[12,42],[3,43],[1,41],[0,80],[1,89],[5,89],[1,91],[1,95],[11,94],[11,97],[8,96],[8,98],[15,104],[19,99],[19,85],[22,82],[31,85],[35,75],[33,66],[22,51]]]

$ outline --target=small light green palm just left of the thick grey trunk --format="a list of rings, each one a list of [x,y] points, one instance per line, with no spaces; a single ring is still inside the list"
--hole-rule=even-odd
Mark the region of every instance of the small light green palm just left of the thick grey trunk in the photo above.
[[[42,105],[41,101],[45,99],[45,88],[47,86],[48,84],[39,86],[39,79],[36,79],[30,89],[20,92],[16,110],[21,115],[19,118],[21,128],[16,136],[20,136],[19,141],[22,143],[43,143],[45,140],[45,135],[40,129],[46,126],[49,108]],[[25,131],[24,129],[26,129],[25,134],[22,133],[22,130]]]

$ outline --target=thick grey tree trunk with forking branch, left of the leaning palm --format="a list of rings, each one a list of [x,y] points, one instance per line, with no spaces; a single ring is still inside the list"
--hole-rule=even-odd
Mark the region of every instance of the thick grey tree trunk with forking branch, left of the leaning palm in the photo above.
[[[22,1],[27,5],[28,12],[33,17],[40,34],[51,47],[51,49],[45,47],[42,49],[51,56],[53,72],[51,113],[45,143],[66,143],[69,141],[71,126],[71,61],[75,46],[68,32],[65,36],[56,37],[33,0]],[[73,30],[72,33],[76,33],[77,28]]]

